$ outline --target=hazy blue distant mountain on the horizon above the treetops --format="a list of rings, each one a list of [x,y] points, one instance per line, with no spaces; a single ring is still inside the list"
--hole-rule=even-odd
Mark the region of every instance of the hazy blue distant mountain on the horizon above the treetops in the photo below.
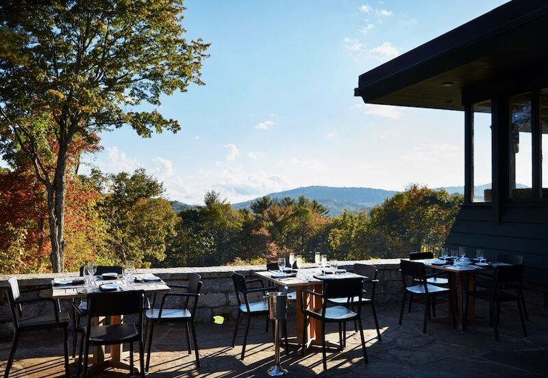
[[[291,190],[285,190],[284,192],[277,192],[266,194],[271,199],[282,199],[284,197],[290,197],[292,199],[298,199],[300,196],[307,197],[308,199],[315,199],[327,210],[329,215],[336,216],[343,212],[343,210],[349,210],[351,212],[357,212],[364,209],[370,209],[375,205],[379,205],[385,199],[392,197],[397,192],[395,190],[373,189],[373,188],[336,188],[332,186],[306,186],[304,188],[296,188]],[[245,201],[240,203],[234,203],[235,209],[249,208],[251,201]]]

